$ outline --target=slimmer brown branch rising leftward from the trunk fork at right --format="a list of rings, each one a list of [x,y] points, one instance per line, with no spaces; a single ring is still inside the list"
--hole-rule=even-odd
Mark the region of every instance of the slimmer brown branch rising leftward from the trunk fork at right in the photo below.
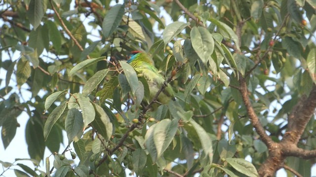
[[[249,116],[251,123],[252,123],[253,127],[256,129],[256,132],[258,133],[258,135],[260,136],[262,141],[267,145],[267,147],[269,149],[271,149],[272,146],[274,145],[274,142],[267,135],[265,129],[261,125],[259,118],[257,117],[257,115],[256,115],[256,113],[251,105],[251,102],[250,102],[249,97],[248,97],[248,90],[247,90],[246,81],[244,78],[239,79],[239,85],[240,85],[239,91],[240,91],[243,103],[247,109],[247,113],[248,113],[248,116]]]

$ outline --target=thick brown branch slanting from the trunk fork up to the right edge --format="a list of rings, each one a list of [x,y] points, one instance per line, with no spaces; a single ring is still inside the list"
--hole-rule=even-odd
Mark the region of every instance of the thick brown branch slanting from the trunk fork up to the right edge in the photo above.
[[[290,114],[290,125],[288,126],[287,132],[284,135],[284,142],[291,142],[297,145],[298,141],[303,134],[307,123],[315,113],[316,108],[316,86],[313,85],[313,89],[307,98],[302,98],[298,102],[301,106],[295,106],[294,110]]]

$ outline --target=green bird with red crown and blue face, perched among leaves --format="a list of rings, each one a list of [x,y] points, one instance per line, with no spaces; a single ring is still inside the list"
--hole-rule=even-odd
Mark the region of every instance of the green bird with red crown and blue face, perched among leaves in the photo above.
[[[142,74],[148,82],[150,89],[150,101],[155,97],[158,90],[162,87],[165,78],[158,72],[147,54],[140,51],[133,51],[127,60],[137,73]],[[174,100],[174,92],[170,84],[159,94],[157,101],[167,104],[171,98]]]

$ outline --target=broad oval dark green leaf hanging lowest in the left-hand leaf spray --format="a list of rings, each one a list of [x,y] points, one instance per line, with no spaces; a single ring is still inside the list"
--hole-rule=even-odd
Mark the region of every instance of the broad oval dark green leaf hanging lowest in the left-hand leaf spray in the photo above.
[[[73,141],[75,137],[83,131],[82,114],[76,108],[72,108],[68,111],[67,118],[65,120],[65,130],[67,132],[69,142]],[[77,137],[77,139],[80,139],[80,137]]]

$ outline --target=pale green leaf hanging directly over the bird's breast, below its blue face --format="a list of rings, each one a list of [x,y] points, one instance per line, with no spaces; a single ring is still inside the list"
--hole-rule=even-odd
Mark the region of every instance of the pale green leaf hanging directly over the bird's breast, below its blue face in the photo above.
[[[127,82],[135,95],[136,89],[138,88],[138,78],[134,68],[124,61],[119,61],[124,74],[126,76]]]

